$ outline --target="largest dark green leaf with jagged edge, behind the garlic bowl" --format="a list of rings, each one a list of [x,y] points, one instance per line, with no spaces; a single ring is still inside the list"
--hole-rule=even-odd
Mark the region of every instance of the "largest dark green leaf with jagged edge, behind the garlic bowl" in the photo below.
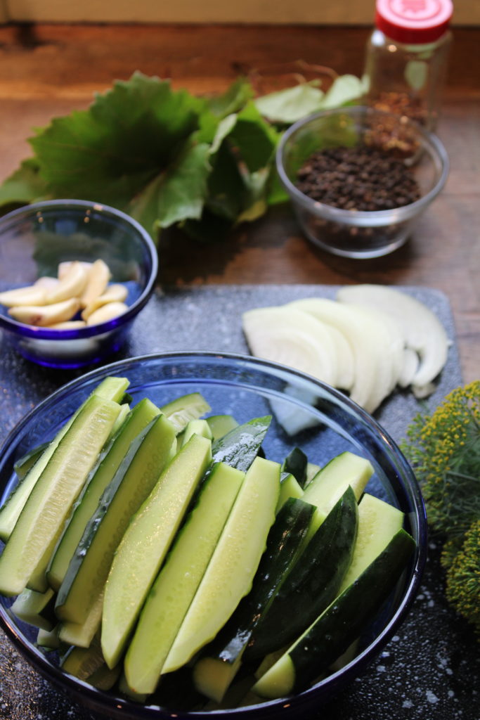
[[[55,194],[123,209],[166,170],[204,107],[168,81],[135,73],[96,96],[88,110],[54,119],[30,143]]]

